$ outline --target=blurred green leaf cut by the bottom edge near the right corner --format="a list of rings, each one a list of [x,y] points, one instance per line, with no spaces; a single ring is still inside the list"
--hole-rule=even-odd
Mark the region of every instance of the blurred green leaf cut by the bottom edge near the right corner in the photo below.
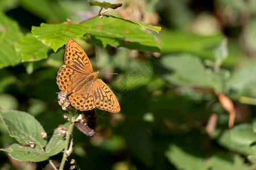
[[[217,152],[210,157],[208,164],[212,170],[246,170],[248,167],[244,162],[245,160],[238,154],[233,155],[228,152]]]

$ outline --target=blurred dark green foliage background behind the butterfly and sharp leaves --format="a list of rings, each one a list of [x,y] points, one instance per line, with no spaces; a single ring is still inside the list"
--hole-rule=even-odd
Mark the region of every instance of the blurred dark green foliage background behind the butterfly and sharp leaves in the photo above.
[[[108,14],[157,25],[162,31],[146,30],[155,38],[154,49],[136,50],[125,43],[102,48],[98,42],[77,40],[94,71],[100,71],[100,78],[118,96],[121,112],[96,109],[94,137],[75,128],[73,153],[65,167],[75,159],[77,169],[256,169],[256,1],[108,2],[123,3]],[[84,0],[0,0],[0,22],[8,17],[18,24],[16,39],[7,39],[17,47],[32,26],[66,18],[79,22],[98,10]],[[125,30],[125,25],[119,29]],[[48,47],[36,48],[43,53]],[[35,61],[21,56],[21,63],[5,63],[6,56],[12,58],[8,46],[1,45],[0,52],[1,111],[32,114],[50,137],[66,122],[63,115],[71,116],[61,110],[56,94],[64,46]],[[214,91],[234,103],[232,129]],[[0,147],[15,143],[6,126],[0,126]],[[51,159],[58,164],[61,156]],[[0,159],[1,169],[43,169],[48,164],[17,162],[5,152],[0,152]]]

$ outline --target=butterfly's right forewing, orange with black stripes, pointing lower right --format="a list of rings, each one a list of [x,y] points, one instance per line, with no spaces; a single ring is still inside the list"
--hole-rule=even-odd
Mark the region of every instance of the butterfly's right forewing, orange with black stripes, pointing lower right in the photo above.
[[[114,92],[101,80],[93,83],[93,99],[95,107],[113,113],[120,112],[120,105]]]

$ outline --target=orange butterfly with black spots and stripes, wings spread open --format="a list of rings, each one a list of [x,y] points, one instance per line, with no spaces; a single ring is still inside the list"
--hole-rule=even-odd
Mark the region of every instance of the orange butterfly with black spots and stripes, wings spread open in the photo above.
[[[80,111],[94,108],[113,113],[120,111],[114,92],[98,79],[99,72],[93,72],[85,51],[72,39],[66,44],[64,62],[57,73],[57,84],[61,91],[69,95],[73,107]]]

